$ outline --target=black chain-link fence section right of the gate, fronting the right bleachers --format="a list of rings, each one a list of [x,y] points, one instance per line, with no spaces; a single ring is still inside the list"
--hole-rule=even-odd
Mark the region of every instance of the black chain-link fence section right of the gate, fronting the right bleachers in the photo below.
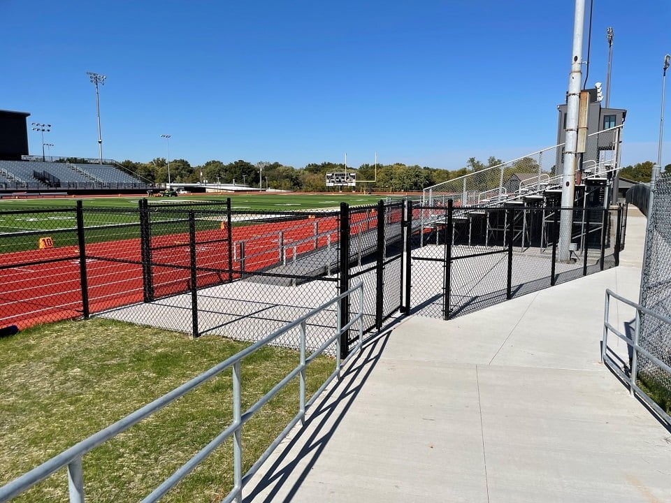
[[[450,319],[617,265],[622,207],[533,204],[414,205],[406,248],[412,261],[410,311]],[[556,256],[563,211],[573,216],[568,261]]]

